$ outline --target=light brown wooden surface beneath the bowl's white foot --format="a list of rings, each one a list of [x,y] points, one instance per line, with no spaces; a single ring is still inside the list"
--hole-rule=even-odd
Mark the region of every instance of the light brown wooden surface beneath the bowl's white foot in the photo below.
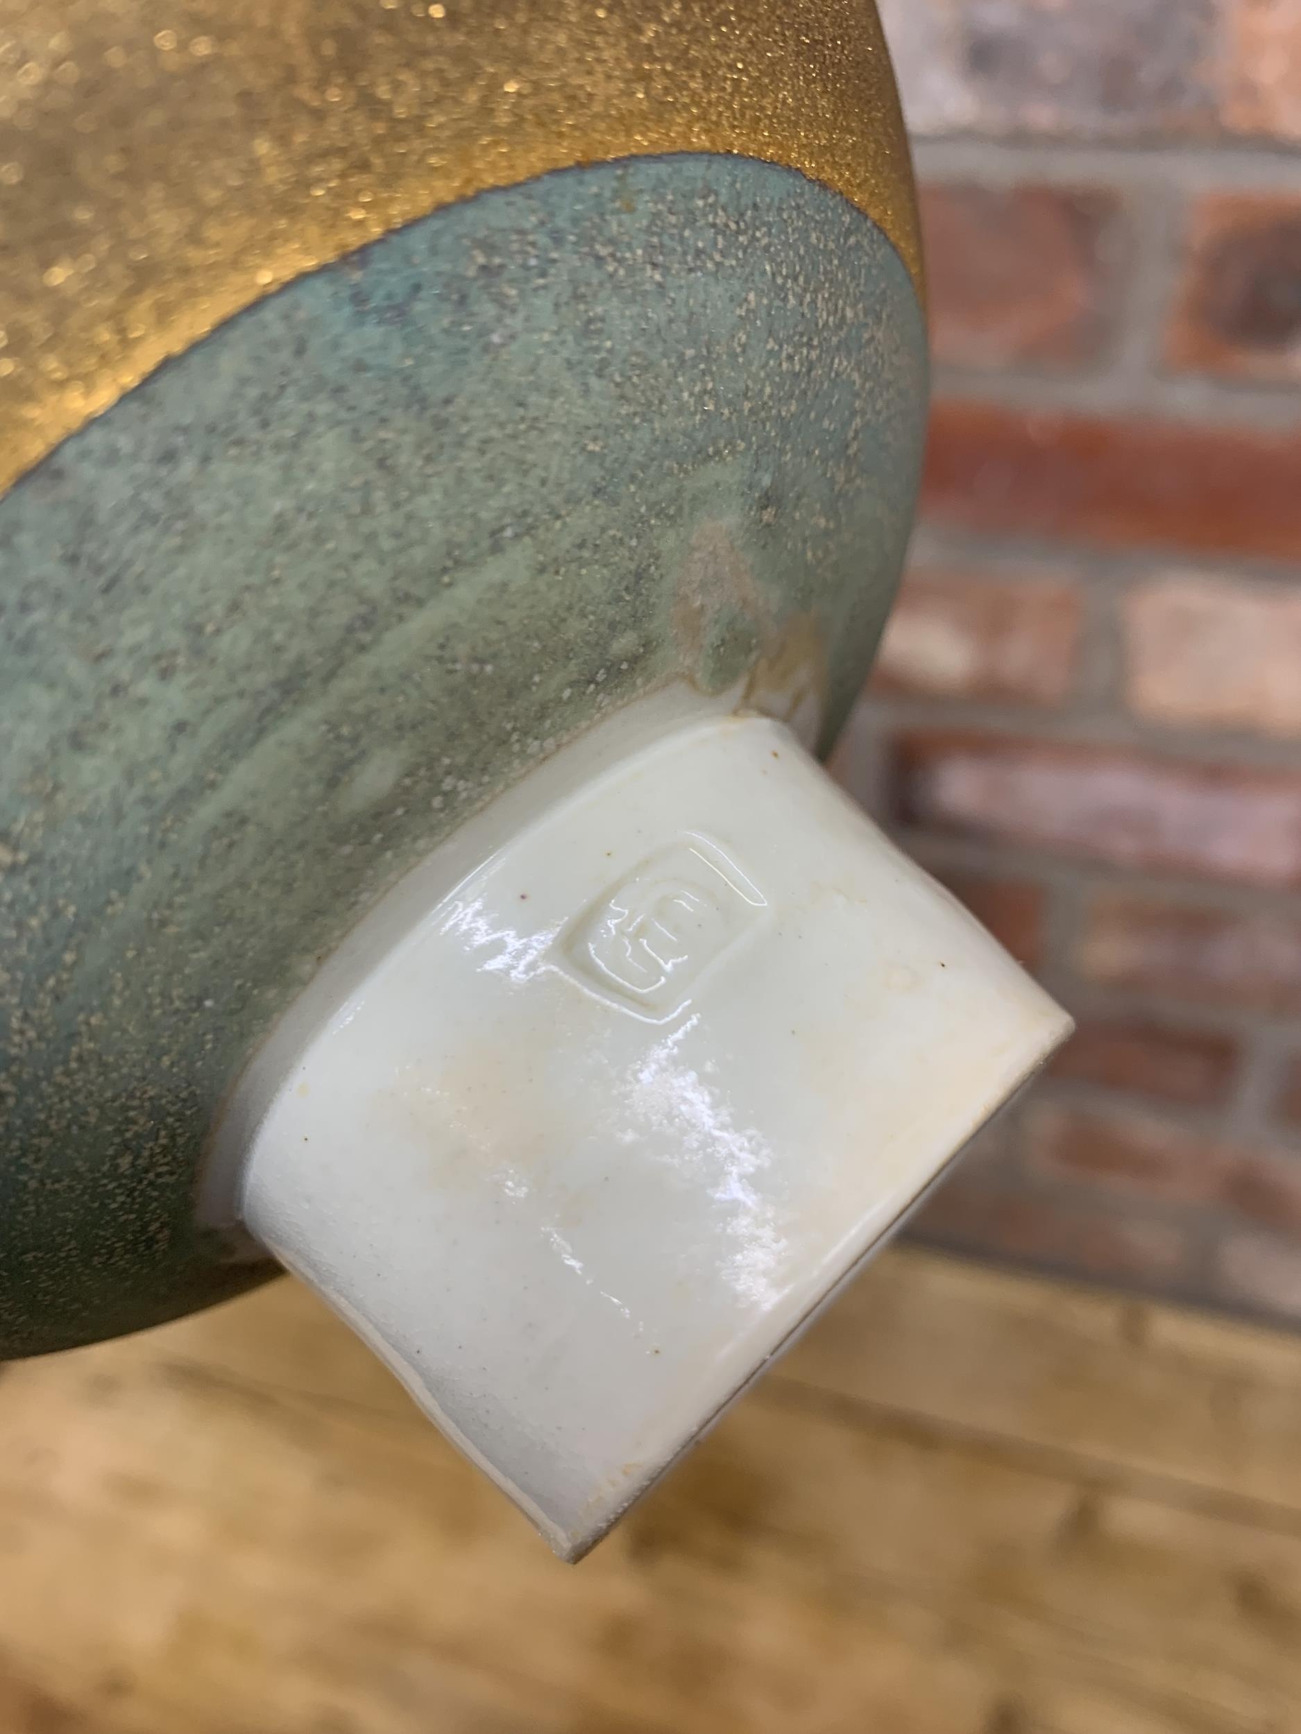
[[[0,1734],[1291,1734],[1301,1337],[883,1259],[559,1566],[279,1283],[0,1373]]]

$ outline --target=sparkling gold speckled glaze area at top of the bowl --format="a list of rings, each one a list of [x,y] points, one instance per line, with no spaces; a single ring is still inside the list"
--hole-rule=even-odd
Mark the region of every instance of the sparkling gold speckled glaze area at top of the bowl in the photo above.
[[[0,0],[0,489],[278,284],[668,151],[803,170],[919,283],[871,0]]]

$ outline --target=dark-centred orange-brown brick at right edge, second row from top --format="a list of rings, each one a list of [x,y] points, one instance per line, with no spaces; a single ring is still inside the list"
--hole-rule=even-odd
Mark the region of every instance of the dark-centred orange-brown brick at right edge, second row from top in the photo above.
[[[1301,199],[1199,199],[1166,364],[1221,378],[1301,380]]]

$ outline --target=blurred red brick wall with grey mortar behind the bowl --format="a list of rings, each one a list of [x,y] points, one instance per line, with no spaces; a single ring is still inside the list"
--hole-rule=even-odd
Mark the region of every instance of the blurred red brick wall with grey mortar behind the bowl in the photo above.
[[[883,16],[937,395],[840,773],[1079,1020],[918,1233],[1301,1321],[1301,0]]]

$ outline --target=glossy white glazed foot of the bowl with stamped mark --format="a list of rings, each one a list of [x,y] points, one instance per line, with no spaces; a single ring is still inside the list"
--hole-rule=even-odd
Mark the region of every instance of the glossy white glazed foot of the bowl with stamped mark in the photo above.
[[[368,919],[224,1131],[252,1235],[571,1559],[1070,1030],[779,723],[604,728]]]

